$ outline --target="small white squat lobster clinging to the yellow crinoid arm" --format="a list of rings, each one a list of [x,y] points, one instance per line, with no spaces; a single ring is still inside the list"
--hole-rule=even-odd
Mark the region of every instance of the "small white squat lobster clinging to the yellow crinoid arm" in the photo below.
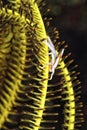
[[[58,66],[59,62],[62,59],[63,53],[64,53],[64,49],[62,49],[59,54],[57,54],[57,51],[55,50],[55,47],[50,39],[49,36],[47,36],[47,40],[44,40],[44,43],[48,46],[48,48],[50,49],[50,53],[49,55],[51,55],[52,59],[51,62],[48,63],[49,65],[49,72],[51,72],[51,76],[50,79],[51,80],[53,78],[54,72],[56,67]]]

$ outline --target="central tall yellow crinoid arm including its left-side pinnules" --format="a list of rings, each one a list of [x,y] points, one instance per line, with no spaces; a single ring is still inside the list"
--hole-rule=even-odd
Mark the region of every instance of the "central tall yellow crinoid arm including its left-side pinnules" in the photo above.
[[[43,42],[47,34],[37,3],[34,0],[25,0],[21,2],[21,8],[23,8],[23,15],[26,16],[26,21],[31,27],[31,38],[29,38],[30,34],[27,33],[27,39],[30,40],[27,43],[27,54],[32,54],[29,56],[31,61],[29,66],[31,65],[31,67],[27,65],[27,68],[29,68],[27,70],[29,71],[29,87],[33,88],[33,91],[31,91],[33,96],[27,94],[27,97],[32,101],[33,105],[31,107],[30,102],[28,102],[27,107],[34,112],[32,111],[33,114],[30,112],[32,116],[29,119],[21,120],[20,128],[27,129],[29,127],[32,130],[38,130],[43,115],[48,85],[49,66],[43,67],[49,62],[48,47]],[[30,19],[30,22],[28,19]],[[27,28],[28,31],[30,30]],[[29,59],[27,59],[27,62]],[[32,70],[37,72],[33,74]],[[26,110],[25,114],[27,115]],[[27,126],[23,125],[23,122],[28,122]]]

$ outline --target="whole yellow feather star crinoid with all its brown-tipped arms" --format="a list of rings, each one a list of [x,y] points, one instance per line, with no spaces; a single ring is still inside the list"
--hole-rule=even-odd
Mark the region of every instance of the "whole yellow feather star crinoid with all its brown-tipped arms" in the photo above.
[[[76,130],[83,122],[80,82],[70,54],[62,55],[49,80],[49,62],[56,63],[66,45],[57,42],[56,28],[53,35],[46,30],[43,6],[41,0],[0,1],[1,130],[56,130],[60,118],[61,130]],[[51,52],[44,43],[48,36]]]

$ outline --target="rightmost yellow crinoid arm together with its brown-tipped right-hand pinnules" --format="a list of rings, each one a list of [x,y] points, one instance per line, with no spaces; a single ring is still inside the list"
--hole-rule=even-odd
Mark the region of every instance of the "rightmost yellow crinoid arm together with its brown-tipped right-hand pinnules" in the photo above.
[[[63,129],[75,130],[82,125],[82,102],[80,101],[81,87],[78,80],[78,72],[75,71],[76,65],[69,70],[69,65],[73,60],[64,63],[60,63],[59,69],[62,75],[62,94],[64,101],[64,124]]]

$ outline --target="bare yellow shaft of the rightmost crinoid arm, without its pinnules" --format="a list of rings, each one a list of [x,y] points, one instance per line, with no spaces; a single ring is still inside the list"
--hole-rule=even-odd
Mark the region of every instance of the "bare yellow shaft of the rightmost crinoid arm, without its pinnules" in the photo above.
[[[63,61],[60,62],[59,66],[62,76],[63,76],[63,85],[62,91],[65,96],[62,100],[65,101],[64,105],[64,124],[63,129],[67,130],[75,129],[75,95],[73,89],[73,83],[70,77],[70,73]]]

